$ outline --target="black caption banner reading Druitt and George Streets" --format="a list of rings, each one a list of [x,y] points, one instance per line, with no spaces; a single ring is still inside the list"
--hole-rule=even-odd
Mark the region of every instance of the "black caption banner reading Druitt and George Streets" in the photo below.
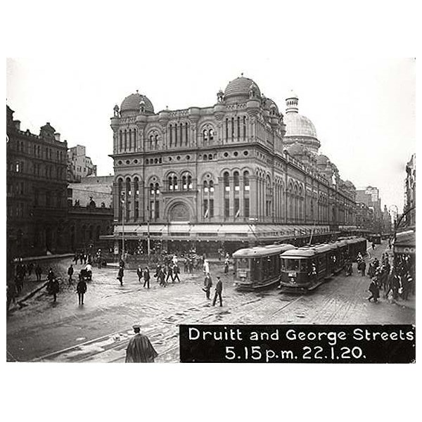
[[[415,362],[414,325],[181,325],[180,361]]]

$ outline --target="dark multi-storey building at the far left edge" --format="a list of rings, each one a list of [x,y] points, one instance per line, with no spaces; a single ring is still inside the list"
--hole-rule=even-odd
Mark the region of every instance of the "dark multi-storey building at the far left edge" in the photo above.
[[[7,243],[11,257],[66,249],[66,141],[50,123],[20,130],[6,105]]]

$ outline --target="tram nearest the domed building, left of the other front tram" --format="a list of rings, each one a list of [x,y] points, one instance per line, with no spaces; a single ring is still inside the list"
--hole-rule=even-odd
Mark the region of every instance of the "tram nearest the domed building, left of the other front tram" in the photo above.
[[[295,246],[281,245],[255,246],[236,250],[234,260],[234,286],[238,289],[254,290],[266,288],[279,282],[280,255]]]

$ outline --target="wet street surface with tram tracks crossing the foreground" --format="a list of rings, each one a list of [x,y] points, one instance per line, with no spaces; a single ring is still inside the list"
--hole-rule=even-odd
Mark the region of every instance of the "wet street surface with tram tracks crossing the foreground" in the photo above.
[[[385,243],[370,251],[381,257]],[[70,264],[63,263],[63,268]],[[75,267],[75,274],[82,266]],[[183,270],[183,268],[182,268]],[[45,289],[15,309],[7,319],[7,359],[18,362],[124,362],[125,347],[141,324],[159,353],[155,362],[179,362],[179,324],[414,324],[414,297],[391,303],[368,302],[370,280],[344,273],[307,295],[279,290],[242,292],[232,274],[212,264],[224,283],[223,307],[212,307],[203,293],[203,273],[181,273],[181,283],[143,288],[135,270],[125,271],[124,285],[117,269],[93,269],[84,306],[78,305],[75,285],[66,283],[52,302]],[[153,273],[151,273],[153,274]],[[66,279],[63,276],[63,279]],[[214,289],[212,289],[213,293]]]

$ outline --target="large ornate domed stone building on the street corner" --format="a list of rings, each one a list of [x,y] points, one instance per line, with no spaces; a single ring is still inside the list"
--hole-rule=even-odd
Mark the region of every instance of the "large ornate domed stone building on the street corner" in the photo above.
[[[111,118],[115,241],[216,250],[353,228],[353,184],[318,154],[295,94],[286,106],[283,118],[243,76],[204,108],[155,113],[138,91],[124,98]]]

